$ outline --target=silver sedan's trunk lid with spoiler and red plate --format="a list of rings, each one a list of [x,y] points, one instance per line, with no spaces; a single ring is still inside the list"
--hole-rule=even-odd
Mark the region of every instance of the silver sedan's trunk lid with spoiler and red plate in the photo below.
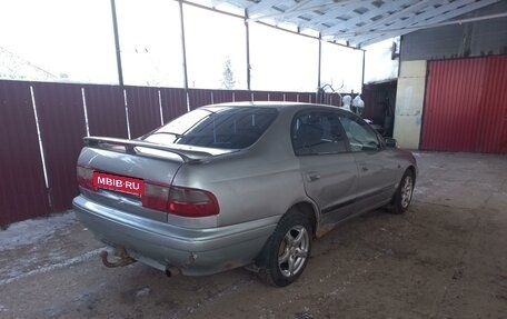
[[[78,179],[80,171],[86,170],[90,185],[80,187],[82,196],[123,212],[166,222],[167,212],[143,207],[143,202],[153,200],[149,198],[153,187],[156,196],[167,196],[163,188],[172,185],[182,165],[230,152],[99,137],[84,138],[84,143],[78,159]]]

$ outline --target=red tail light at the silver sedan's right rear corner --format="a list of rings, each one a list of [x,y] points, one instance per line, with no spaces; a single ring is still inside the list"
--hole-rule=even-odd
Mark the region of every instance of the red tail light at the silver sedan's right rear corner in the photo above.
[[[192,218],[219,212],[217,198],[209,191],[148,182],[145,182],[142,207]]]

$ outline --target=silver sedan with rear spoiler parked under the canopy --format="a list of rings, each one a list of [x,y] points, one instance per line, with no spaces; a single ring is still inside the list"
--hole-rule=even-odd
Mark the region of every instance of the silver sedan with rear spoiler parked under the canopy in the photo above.
[[[304,271],[334,226],[410,205],[417,165],[356,114],[308,103],[225,103],[135,140],[90,137],[73,207],[116,249],[168,275],[245,267],[274,286]]]

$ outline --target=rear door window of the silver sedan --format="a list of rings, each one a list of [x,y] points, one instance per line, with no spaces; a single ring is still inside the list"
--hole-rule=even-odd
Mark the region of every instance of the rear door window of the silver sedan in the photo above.
[[[291,128],[296,156],[332,154],[347,151],[338,116],[326,111],[298,113]]]

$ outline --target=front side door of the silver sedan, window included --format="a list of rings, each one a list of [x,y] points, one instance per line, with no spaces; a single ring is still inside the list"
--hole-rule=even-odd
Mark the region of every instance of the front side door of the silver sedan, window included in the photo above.
[[[399,165],[367,122],[350,112],[341,113],[339,119],[359,172],[355,212],[387,203],[397,187]]]

